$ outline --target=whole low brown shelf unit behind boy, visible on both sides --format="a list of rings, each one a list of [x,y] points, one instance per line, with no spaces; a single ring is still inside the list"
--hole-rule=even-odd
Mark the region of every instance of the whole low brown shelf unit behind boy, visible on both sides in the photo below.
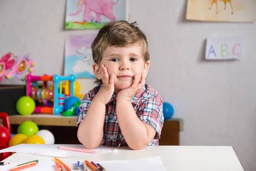
[[[56,143],[77,144],[80,143],[77,139],[76,121],[77,116],[65,117],[53,114],[31,114],[28,116],[23,115],[9,115],[10,124],[12,125],[12,132],[17,131],[17,126],[24,121],[30,120],[36,123],[41,129],[48,129],[51,131],[56,139]],[[71,128],[72,127],[72,128]],[[64,131],[67,136],[58,134]],[[159,145],[179,145],[180,131],[183,131],[183,119],[172,118],[165,120],[159,140]]]

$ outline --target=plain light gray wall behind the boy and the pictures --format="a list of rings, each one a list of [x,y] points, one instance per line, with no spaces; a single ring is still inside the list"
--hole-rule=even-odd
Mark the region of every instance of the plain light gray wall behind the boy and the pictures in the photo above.
[[[64,30],[64,14],[64,0],[0,0],[0,54],[29,52],[35,74],[63,74],[66,35],[97,32]],[[231,145],[255,171],[256,24],[186,21],[186,0],[129,0],[128,15],[148,37],[147,83],[184,119],[180,144]],[[204,60],[205,39],[221,36],[244,36],[242,60]],[[81,93],[94,86],[79,83]]]

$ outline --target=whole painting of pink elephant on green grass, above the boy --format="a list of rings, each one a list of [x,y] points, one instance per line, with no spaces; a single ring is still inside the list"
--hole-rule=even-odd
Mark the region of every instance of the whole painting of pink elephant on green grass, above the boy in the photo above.
[[[112,20],[125,20],[125,0],[66,0],[66,29],[100,29]]]

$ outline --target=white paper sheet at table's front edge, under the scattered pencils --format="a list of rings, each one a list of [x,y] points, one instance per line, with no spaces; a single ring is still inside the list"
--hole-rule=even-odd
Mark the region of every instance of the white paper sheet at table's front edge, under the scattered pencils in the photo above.
[[[77,171],[76,163],[77,161],[80,161],[80,170],[83,170],[82,162],[84,161],[81,159],[63,159],[61,161],[68,165],[72,171]],[[100,163],[107,171],[166,171],[166,169],[163,167],[160,156],[141,158],[136,160],[108,160],[93,162]],[[0,166],[0,170],[7,171],[15,165],[19,164],[21,163],[10,163],[9,165]],[[39,161],[36,166],[27,168],[26,171],[57,171],[57,169],[54,160],[49,160],[45,162]]]

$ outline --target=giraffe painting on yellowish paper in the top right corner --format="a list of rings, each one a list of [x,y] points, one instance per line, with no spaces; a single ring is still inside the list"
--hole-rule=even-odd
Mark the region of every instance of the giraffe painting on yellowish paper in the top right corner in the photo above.
[[[256,0],[188,0],[187,20],[255,22]]]

